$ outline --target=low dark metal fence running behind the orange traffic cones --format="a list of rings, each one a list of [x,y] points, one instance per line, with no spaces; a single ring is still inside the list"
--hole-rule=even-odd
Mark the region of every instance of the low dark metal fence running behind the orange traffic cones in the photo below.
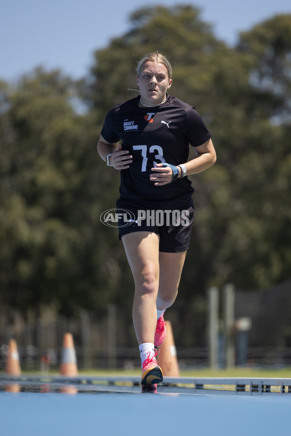
[[[0,346],[0,371],[4,371],[8,345]],[[48,372],[59,370],[62,348],[40,350],[35,346],[18,346],[20,367],[23,371]],[[82,347],[76,347],[77,365],[81,370],[118,369],[128,372],[140,368],[140,357],[137,347],[134,348],[90,348],[89,353]],[[177,347],[180,371],[208,368],[209,348]],[[273,347],[249,347],[246,368],[279,369],[291,367],[291,350]],[[217,367],[222,369],[222,367]]]

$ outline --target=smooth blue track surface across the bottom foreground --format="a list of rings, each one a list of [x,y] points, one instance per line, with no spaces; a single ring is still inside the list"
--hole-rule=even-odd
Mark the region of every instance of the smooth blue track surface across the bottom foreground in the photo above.
[[[290,435],[281,395],[0,392],[0,434]]]

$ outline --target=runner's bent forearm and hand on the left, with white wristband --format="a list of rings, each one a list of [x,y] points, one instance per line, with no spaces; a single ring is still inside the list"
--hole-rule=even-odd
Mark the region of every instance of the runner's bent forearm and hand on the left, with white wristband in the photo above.
[[[97,143],[97,151],[101,158],[106,162],[106,156],[109,157],[110,166],[115,170],[126,170],[132,162],[132,156],[129,156],[128,150],[122,150],[119,142],[108,142],[101,135]]]

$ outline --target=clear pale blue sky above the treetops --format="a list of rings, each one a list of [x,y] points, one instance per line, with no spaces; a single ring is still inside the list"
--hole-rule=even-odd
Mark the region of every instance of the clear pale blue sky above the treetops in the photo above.
[[[202,19],[229,45],[240,31],[291,14],[290,0],[0,0],[0,79],[13,81],[38,65],[81,78],[94,50],[129,29],[132,12],[185,3],[201,8]]]

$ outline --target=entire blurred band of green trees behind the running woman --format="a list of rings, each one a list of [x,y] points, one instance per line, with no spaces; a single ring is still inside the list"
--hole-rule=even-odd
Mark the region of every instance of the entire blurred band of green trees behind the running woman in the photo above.
[[[139,59],[155,50],[170,59],[170,91],[202,115],[218,157],[191,176],[196,218],[180,315],[190,322],[187,308],[203,312],[210,284],[264,289],[289,278],[290,41],[290,15],[227,47],[197,8],[145,8],[131,15],[128,32],[96,51],[82,82],[41,68],[16,85],[0,82],[2,307],[27,313],[54,302],[70,314],[115,302],[130,310],[122,243],[99,220],[115,205],[119,176],[96,144],[107,111],[135,95]],[[78,102],[88,110],[79,113]]]

